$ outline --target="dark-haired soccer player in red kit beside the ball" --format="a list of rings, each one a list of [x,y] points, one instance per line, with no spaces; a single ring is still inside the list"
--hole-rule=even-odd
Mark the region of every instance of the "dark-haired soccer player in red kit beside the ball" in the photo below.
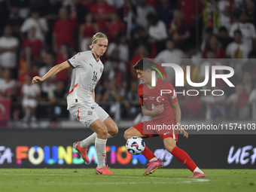
[[[132,136],[142,138],[160,136],[160,138],[163,139],[166,150],[177,157],[181,163],[184,163],[187,169],[194,172],[194,175],[190,176],[190,178],[206,177],[206,174],[198,168],[189,155],[176,146],[178,142],[178,131],[186,138],[188,137],[187,132],[181,129],[181,109],[178,105],[178,98],[176,94],[162,94],[162,96],[160,96],[160,90],[172,90],[172,93],[175,91],[172,84],[160,78],[156,78],[155,87],[151,86],[151,73],[152,70],[154,70],[151,67],[154,65],[152,63],[150,59],[140,59],[139,62],[133,66],[133,69],[136,69],[138,73],[138,78],[143,82],[138,88],[142,113],[151,116],[151,120],[130,127],[130,129],[126,130],[124,133],[124,139],[127,140]],[[172,127],[176,125],[178,129],[164,130],[164,132],[158,133],[156,130],[148,130],[148,126],[163,124],[166,126],[173,125]],[[144,130],[143,127],[145,128]],[[147,146],[145,146],[145,150],[142,154],[149,160],[148,168],[143,175],[148,175],[163,166],[163,162],[157,159]]]

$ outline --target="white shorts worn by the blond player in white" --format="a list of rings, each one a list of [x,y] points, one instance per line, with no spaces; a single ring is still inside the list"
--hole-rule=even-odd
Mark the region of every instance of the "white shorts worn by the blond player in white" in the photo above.
[[[76,120],[84,124],[84,126],[90,127],[91,123],[99,119],[102,122],[109,117],[108,113],[99,105],[96,107],[89,107],[86,105],[76,105],[69,108],[69,112],[75,117]]]

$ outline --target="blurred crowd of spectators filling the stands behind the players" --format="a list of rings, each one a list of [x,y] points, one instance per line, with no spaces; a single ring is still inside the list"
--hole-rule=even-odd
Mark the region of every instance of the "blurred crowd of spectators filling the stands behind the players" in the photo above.
[[[252,0],[0,0],[0,98],[21,103],[12,107],[11,118],[23,118],[25,126],[29,120],[36,124],[42,113],[56,126],[66,114],[66,106],[59,103],[66,101],[72,69],[42,84],[31,84],[32,77],[90,50],[91,37],[104,32],[109,44],[101,58],[105,69],[96,86],[96,102],[110,102],[103,108],[111,116],[116,110],[112,102],[121,103],[123,118],[133,119],[140,112],[140,82],[133,65],[148,57],[158,64],[178,64],[184,72],[190,66],[195,83],[203,82],[205,66],[235,70],[230,78],[235,88],[216,82],[223,96],[179,94],[184,118],[252,118],[255,26]],[[173,70],[165,70],[174,84]],[[198,90],[188,84],[185,88]],[[50,107],[39,113],[38,101]]]

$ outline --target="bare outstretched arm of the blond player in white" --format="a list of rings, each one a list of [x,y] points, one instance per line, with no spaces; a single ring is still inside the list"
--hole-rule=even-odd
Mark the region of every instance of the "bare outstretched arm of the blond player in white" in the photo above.
[[[44,81],[47,78],[50,78],[51,76],[56,75],[58,72],[61,72],[62,70],[69,69],[69,68],[70,68],[69,62],[67,62],[67,61],[66,62],[62,62],[61,64],[56,65],[52,69],[50,69],[50,71],[47,72],[47,74],[45,74],[44,77],[41,78],[41,77],[35,76],[32,79],[32,84]]]

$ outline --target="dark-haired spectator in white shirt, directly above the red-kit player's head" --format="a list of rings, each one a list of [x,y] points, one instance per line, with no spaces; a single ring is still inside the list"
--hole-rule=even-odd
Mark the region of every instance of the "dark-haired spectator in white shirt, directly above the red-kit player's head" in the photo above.
[[[152,49],[155,46],[157,53],[160,53],[160,51],[165,49],[166,38],[168,38],[166,25],[153,13],[148,14],[147,20],[149,41],[151,42]],[[153,50],[151,50],[152,52]]]

